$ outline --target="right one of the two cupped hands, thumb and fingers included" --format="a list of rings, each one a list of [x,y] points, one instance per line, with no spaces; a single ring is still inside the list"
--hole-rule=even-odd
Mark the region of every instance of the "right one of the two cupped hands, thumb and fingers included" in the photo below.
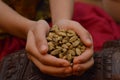
[[[88,70],[93,64],[93,42],[92,37],[87,30],[85,30],[82,25],[76,21],[72,20],[60,20],[56,23],[62,29],[71,29],[74,30],[82,42],[86,45],[86,50],[82,55],[75,57],[73,60],[73,75],[81,75],[86,70]]]

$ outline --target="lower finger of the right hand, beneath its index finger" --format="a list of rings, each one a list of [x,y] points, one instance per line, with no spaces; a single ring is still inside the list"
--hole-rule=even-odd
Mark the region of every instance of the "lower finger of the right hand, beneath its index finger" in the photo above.
[[[93,66],[94,60],[91,58],[88,62],[73,65],[73,72],[84,72]]]

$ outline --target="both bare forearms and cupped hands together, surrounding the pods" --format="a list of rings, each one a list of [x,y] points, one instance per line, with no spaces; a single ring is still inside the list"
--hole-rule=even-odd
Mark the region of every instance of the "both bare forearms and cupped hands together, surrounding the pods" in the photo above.
[[[50,8],[53,25],[74,30],[87,46],[87,50],[73,60],[73,67],[70,66],[68,61],[58,59],[47,53],[46,34],[50,27],[45,20],[29,20],[0,1],[0,29],[14,36],[26,39],[28,58],[43,73],[58,77],[81,75],[94,63],[91,35],[80,23],[71,20],[73,0],[50,0]]]

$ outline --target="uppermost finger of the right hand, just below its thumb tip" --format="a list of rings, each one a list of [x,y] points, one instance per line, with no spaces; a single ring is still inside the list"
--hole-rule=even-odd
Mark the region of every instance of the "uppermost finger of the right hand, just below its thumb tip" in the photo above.
[[[92,47],[90,49],[86,48],[85,52],[83,52],[80,56],[74,58],[73,63],[74,64],[85,63],[91,57],[93,57],[93,48]]]

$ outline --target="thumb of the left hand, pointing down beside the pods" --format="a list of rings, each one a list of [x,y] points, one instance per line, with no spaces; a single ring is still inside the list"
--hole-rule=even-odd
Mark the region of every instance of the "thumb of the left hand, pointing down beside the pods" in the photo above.
[[[46,34],[48,33],[49,29],[50,27],[47,22],[45,22],[44,20],[39,20],[38,25],[33,30],[36,45],[41,54],[45,54],[48,51]]]

